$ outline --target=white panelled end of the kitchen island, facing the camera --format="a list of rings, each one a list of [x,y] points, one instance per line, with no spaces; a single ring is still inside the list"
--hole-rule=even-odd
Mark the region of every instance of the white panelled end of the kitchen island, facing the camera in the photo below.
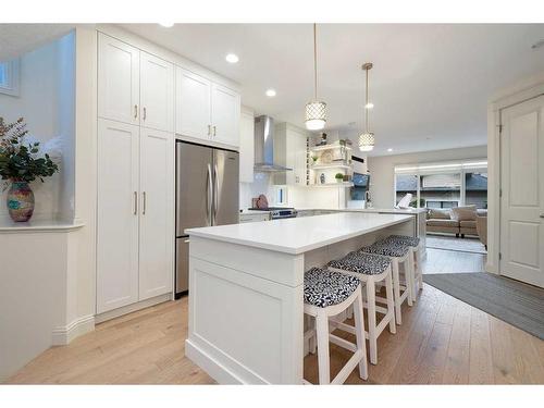
[[[302,381],[304,255],[189,244],[186,355],[221,384]]]

